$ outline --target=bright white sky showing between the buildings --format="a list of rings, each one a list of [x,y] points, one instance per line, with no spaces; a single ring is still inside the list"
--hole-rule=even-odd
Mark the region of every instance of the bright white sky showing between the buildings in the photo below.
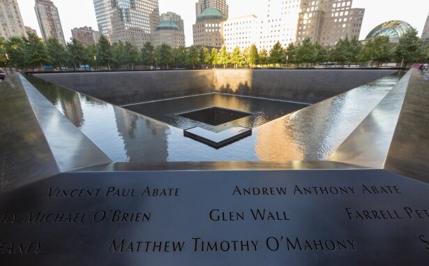
[[[38,31],[34,0],[17,0],[24,24]],[[71,37],[71,29],[89,26],[98,30],[96,13],[92,0],[53,0],[59,10],[66,41]],[[186,45],[193,43],[192,25],[195,23],[195,3],[197,0],[159,0],[160,13],[172,11],[185,20]],[[260,15],[267,0],[227,0],[229,17],[255,14]],[[250,4],[251,3],[251,4]],[[377,25],[389,20],[403,20],[419,31],[423,30],[429,13],[428,0],[354,0],[354,8],[366,8],[360,39]]]

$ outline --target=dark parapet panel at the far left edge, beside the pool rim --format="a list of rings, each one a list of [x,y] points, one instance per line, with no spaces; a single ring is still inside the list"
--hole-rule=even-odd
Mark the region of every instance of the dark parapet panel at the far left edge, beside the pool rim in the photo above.
[[[0,83],[0,191],[60,172],[17,74]]]

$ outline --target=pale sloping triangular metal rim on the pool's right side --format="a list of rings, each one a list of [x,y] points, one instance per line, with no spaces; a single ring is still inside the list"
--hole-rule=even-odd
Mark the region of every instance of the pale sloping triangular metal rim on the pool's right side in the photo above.
[[[329,160],[384,168],[411,74],[402,77]]]

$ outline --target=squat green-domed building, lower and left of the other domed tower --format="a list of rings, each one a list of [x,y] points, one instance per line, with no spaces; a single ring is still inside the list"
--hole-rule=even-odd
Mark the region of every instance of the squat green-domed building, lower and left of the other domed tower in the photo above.
[[[173,48],[185,46],[185,34],[181,31],[179,25],[174,20],[163,20],[160,22],[152,36],[154,46],[164,43]]]

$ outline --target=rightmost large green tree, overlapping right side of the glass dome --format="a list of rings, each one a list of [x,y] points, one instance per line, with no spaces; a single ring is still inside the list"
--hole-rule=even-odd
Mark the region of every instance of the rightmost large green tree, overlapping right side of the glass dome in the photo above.
[[[395,59],[397,63],[401,62],[401,67],[414,63],[423,53],[423,41],[417,34],[416,29],[409,29],[395,47]]]

